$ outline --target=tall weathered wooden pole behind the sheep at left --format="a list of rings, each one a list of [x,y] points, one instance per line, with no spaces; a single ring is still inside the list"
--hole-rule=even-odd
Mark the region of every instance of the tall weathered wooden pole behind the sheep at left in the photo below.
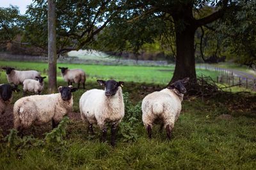
[[[56,92],[56,14],[55,0],[48,0],[48,80],[49,93]]]

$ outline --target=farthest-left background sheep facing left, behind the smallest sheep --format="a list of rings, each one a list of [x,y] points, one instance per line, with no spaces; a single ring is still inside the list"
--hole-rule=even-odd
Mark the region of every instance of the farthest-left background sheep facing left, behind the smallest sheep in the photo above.
[[[17,71],[12,67],[2,67],[6,71],[7,80],[9,83],[13,83],[15,87],[23,83],[26,79],[36,80],[36,76],[40,76],[40,73],[35,70],[30,71]]]

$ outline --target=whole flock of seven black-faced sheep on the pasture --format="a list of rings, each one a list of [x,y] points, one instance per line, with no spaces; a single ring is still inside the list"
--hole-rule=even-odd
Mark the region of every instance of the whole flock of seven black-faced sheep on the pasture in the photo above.
[[[72,92],[79,89],[80,83],[86,81],[82,69],[59,67],[67,87],[58,87],[58,93],[40,95],[44,89],[44,78],[38,71],[17,71],[12,67],[2,67],[10,84],[0,85],[0,113],[4,113],[12,101],[12,91],[19,91],[17,86],[23,83],[23,92],[34,92],[36,95],[22,97],[13,106],[14,128],[22,133],[31,125],[42,125],[52,121],[52,128],[57,127],[61,119],[72,111]],[[161,120],[168,139],[171,139],[175,121],[179,118],[181,102],[186,93],[184,84],[189,78],[178,80],[159,92],[148,94],[142,101],[142,120],[147,129],[148,138],[152,136],[152,127],[156,120]],[[102,131],[102,141],[106,141],[107,127],[111,124],[111,145],[115,145],[116,127],[124,118],[124,99],[122,94],[123,81],[97,80],[104,90],[87,90],[79,100],[79,110],[88,130],[93,132],[93,124],[99,125]],[[77,83],[77,88],[72,87]],[[14,84],[14,86],[12,85]]]

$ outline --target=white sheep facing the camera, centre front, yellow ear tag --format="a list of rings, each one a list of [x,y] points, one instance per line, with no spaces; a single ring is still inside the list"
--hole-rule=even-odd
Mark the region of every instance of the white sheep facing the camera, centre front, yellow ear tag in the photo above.
[[[92,89],[84,92],[79,100],[79,109],[83,122],[93,132],[93,124],[99,125],[102,141],[106,141],[106,123],[111,123],[111,145],[115,146],[116,127],[124,118],[124,99],[122,94],[123,81],[97,80],[105,90]]]

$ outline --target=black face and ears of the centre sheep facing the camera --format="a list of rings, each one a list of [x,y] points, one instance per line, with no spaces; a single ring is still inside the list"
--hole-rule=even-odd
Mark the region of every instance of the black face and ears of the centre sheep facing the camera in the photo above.
[[[114,96],[116,94],[116,91],[118,90],[118,87],[124,85],[123,81],[116,82],[115,80],[108,80],[108,81],[97,80],[97,82],[100,85],[104,85],[105,95],[107,97]]]

